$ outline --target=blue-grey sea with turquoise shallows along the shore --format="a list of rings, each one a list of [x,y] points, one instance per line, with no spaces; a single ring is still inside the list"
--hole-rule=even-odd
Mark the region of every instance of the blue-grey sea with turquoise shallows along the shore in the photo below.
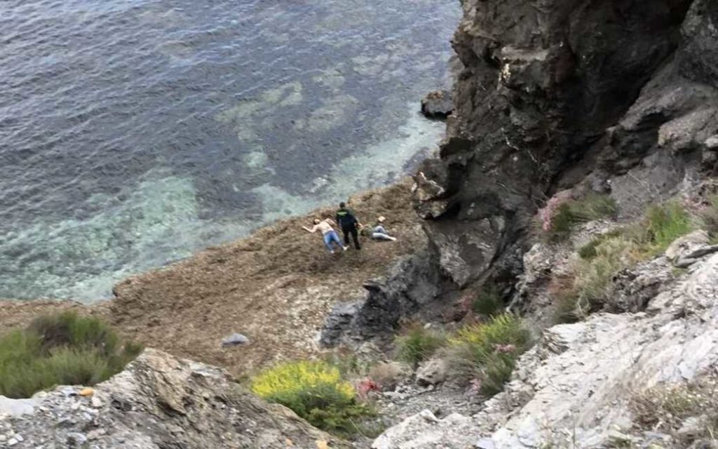
[[[0,297],[98,300],[401,176],[454,1],[0,2]]]

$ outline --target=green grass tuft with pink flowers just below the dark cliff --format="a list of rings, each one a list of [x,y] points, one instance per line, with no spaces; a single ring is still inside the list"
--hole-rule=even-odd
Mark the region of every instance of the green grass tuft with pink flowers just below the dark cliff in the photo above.
[[[580,199],[564,201],[550,217],[546,238],[556,243],[568,239],[574,228],[589,221],[610,218],[617,213],[615,200],[607,195],[592,193]]]

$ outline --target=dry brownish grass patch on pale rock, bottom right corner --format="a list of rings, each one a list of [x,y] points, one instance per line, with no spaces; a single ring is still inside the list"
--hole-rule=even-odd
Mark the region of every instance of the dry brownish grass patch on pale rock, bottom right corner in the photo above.
[[[691,443],[718,443],[718,386],[714,376],[689,384],[659,385],[635,394],[630,403],[642,429],[673,435],[681,448]],[[687,418],[698,420],[696,432],[680,434]],[[697,445],[696,447],[713,447]]]

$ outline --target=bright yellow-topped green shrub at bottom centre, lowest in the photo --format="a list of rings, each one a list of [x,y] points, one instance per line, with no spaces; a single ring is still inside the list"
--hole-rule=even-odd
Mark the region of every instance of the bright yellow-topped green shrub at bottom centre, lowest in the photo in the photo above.
[[[374,414],[355,400],[354,387],[325,361],[294,361],[261,372],[251,381],[259,397],[292,409],[320,429],[339,435],[358,431],[357,422]]]

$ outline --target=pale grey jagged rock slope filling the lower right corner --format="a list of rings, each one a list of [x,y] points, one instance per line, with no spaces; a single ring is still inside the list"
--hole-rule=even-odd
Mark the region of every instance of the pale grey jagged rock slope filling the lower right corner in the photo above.
[[[718,255],[713,254],[668,283],[645,312],[601,313],[546,330],[519,360],[505,392],[477,415],[412,417],[387,430],[375,447],[435,448],[441,435],[457,435],[442,442],[445,449],[479,443],[492,449],[606,448],[615,447],[617,435],[636,443],[631,447],[648,447],[656,438],[658,447],[679,447],[670,435],[636,426],[631,403],[653,386],[714,376],[717,363]]]

